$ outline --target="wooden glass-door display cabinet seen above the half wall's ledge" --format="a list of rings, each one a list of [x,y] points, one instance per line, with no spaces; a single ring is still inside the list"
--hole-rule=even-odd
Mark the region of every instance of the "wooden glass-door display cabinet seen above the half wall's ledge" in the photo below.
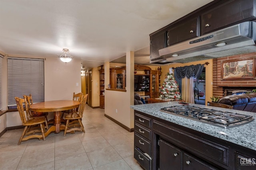
[[[110,88],[125,89],[125,68],[110,68]]]

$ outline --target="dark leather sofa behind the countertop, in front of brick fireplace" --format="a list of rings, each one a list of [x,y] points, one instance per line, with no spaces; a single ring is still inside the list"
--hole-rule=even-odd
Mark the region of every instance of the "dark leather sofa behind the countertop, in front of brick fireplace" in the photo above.
[[[225,96],[220,104],[233,106],[233,109],[256,112],[256,93]]]

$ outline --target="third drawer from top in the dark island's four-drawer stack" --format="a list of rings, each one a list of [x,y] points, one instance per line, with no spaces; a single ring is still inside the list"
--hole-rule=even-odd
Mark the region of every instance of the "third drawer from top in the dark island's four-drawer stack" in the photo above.
[[[134,135],[134,146],[151,156],[151,142],[140,137],[137,133]]]

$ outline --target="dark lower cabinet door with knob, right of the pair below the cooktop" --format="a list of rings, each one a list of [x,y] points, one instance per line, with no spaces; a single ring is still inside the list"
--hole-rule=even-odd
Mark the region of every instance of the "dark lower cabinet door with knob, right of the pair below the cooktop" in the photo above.
[[[191,170],[191,169],[194,169],[195,167],[198,170],[217,170],[216,168],[184,153],[183,154],[183,170]]]

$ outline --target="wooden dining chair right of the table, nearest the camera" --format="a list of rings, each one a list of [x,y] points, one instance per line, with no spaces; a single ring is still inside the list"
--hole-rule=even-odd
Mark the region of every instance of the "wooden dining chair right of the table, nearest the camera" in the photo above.
[[[78,113],[72,113],[65,116],[66,119],[66,127],[64,131],[64,136],[66,136],[66,133],[69,133],[71,131],[84,131],[84,125],[82,123],[82,117],[84,113],[84,106],[86,104],[88,94],[82,95],[82,99],[80,101],[80,107],[78,110]],[[79,127],[80,126],[80,127]]]

